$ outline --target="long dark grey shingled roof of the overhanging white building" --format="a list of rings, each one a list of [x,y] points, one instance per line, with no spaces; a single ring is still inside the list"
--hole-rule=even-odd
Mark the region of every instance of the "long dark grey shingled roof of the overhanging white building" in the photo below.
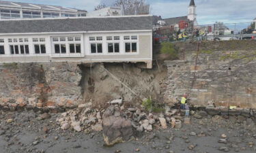
[[[152,30],[152,16],[0,20],[0,34]]]

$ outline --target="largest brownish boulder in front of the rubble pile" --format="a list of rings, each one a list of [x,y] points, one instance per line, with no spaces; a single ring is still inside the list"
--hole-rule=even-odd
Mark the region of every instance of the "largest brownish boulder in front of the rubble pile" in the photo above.
[[[107,146],[128,141],[132,135],[132,122],[122,117],[109,116],[103,118],[103,137]]]

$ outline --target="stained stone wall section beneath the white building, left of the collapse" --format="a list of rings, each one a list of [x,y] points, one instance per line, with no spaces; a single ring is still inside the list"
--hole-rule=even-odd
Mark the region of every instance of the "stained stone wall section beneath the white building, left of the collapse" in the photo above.
[[[81,103],[77,63],[8,63],[0,66],[1,107],[74,107]]]

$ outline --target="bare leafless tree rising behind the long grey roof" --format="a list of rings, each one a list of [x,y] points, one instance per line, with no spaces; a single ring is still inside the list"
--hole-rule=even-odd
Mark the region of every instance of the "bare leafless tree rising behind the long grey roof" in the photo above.
[[[150,5],[145,0],[116,0],[115,6],[121,7],[124,15],[150,14]]]

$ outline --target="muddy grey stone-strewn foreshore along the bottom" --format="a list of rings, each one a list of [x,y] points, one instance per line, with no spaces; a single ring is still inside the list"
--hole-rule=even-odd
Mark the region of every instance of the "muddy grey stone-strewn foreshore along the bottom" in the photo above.
[[[41,117],[40,117],[41,116]],[[191,118],[191,124],[181,129],[160,130],[113,147],[105,147],[100,132],[62,131],[56,123],[58,114],[44,116],[42,112],[1,112],[0,152],[255,152],[256,128],[251,118],[206,116]],[[8,120],[13,119],[13,120]],[[221,135],[227,135],[227,143],[218,143]],[[190,147],[190,148],[189,148]]]

